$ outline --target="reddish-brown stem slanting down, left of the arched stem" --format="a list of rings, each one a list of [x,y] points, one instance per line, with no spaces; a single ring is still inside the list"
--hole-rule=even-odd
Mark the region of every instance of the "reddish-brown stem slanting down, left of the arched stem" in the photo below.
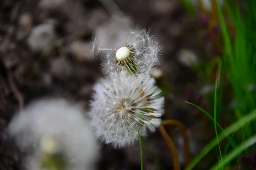
[[[180,170],[179,155],[174,142],[172,141],[172,139],[170,138],[162,124],[158,127],[158,130],[160,131],[164,141],[166,142],[167,146],[169,147],[169,150],[172,153],[173,169]]]

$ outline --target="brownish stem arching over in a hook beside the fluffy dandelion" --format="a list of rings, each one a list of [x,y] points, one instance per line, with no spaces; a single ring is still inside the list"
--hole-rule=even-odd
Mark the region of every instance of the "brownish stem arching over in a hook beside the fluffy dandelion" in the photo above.
[[[183,142],[184,142],[186,165],[188,165],[192,161],[192,156],[189,153],[189,138],[186,133],[186,127],[181,122],[179,122],[177,120],[171,120],[171,119],[163,120],[161,125],[177,126],[180,129],[181,135],[183,137]]]

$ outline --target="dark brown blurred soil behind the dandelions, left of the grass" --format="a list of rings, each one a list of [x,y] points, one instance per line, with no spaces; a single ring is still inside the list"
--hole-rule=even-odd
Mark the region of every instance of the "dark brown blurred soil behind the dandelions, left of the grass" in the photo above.
[[[106,3],[107,2],[107,3]],[[187,16],[179,0],[1,0],[0,2],[0,170],[22,169],[22,158],[5,128],[15,111],[42,96],[61,96],[89,109],[94,83],[102,77],[99,61],[87,57],[90,38],[123,23],[151,28],[163,45],[159,66],[168,91],[165,118],[187,127],[191,153],[209,139],[208,119],[189,101],[207,110],[197,73],[179,59],[189,49],[196,59],[210,53],[202,43],[198,20]],[[115,6],[116,5],[116,6]],[[102,31],[103,30],[103,31]],[[111,37],[110,36],[110,37]],[[111,40],[110,40],[111,41]],[[43,50],[49,46],[47,50]],[[177,129],[168,129],[185,165]],[[82,132],[81,132],[82,133]],[[172,156],[159,132],[143,142],[145,170],[171,170]],[[98,170],[140,170],[139,144],[123,150],[102,147]]]

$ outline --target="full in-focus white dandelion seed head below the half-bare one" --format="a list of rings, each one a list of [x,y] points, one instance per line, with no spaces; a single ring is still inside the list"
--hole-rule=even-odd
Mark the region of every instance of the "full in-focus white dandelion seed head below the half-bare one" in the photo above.
[[[89,115],[102,142],[114,148],[130,146],[138,139],[137,125],[141,136],[160,125],[164,97],[153,78],[131,81],[118,75],[115,84],[101,79],[94,90]]]

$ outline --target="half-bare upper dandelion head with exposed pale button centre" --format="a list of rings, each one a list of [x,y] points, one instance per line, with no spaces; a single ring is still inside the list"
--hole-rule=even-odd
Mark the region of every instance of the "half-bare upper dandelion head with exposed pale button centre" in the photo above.
[[[122,34],[119,36],[122,38],[109,44],[109,47],[103,48],[101,39],[93,40],[93,51],[100,54],[103,73],[109,76],[111,73],[116,75],[123,71],[124,77],[130,74],[135,79],[142,73],[149,75],[152,68],[159,62],[161,46],[157,40],[150,31],[142,28],[123,31],[119,34]],[[127,37],[126,42],[123,41],[124,36]]]

